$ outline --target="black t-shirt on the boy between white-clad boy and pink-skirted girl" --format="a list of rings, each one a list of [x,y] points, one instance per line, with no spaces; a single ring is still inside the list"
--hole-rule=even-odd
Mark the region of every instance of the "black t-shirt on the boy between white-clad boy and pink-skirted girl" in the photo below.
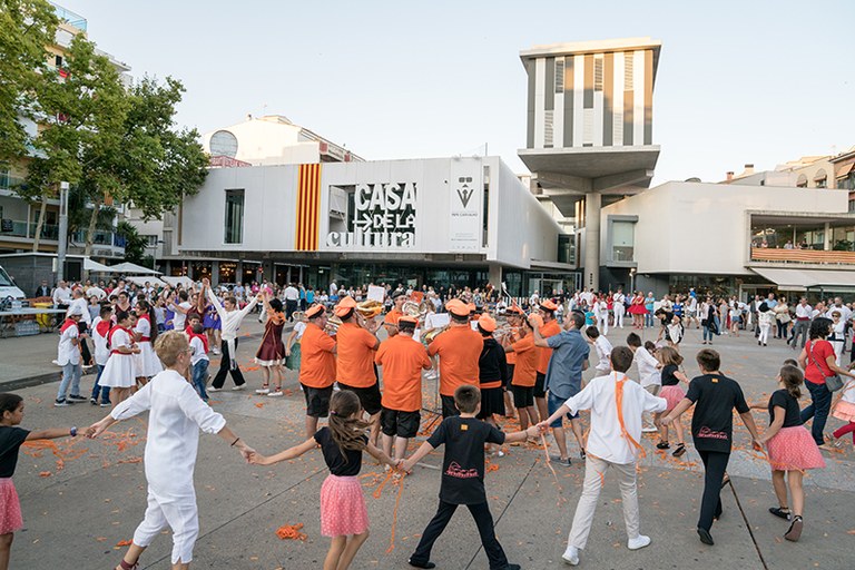
[[[691,436],[698,451],[730,453],[734,439],[734,409],[749,411],[739,384],[723,374],[704,374],[689,383],[686,397],[695,402]]]

